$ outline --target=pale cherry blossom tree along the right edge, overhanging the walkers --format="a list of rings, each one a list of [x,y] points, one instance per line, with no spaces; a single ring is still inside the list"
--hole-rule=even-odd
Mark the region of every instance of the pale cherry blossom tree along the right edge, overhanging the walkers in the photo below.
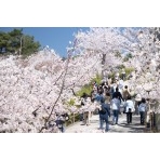
[[[126,31],[128,30],[128,31]],[[160,39],[159,28],[141,28],[141,30],[126,29],[125,37],[134,39],[132,48],[133,57],[125,64],[135,68],[133,78],[130,80],[136,93],[160,102]],[[130,30],[130,31],[129,31]],[[160,107],[151,108],[159,112]]]

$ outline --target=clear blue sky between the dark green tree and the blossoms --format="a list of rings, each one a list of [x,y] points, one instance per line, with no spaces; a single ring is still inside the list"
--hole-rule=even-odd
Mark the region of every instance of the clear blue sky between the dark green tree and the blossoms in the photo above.
[[[11,31],[13,27],[0,27],[0,31]],[[34,36],[42,46],[49,45],[61,56],[66,56],[66,48],[69,45],[69,41],[74,41],[74,32],[80,29],[89,30],[86,27],[23,27],[23,32]]]

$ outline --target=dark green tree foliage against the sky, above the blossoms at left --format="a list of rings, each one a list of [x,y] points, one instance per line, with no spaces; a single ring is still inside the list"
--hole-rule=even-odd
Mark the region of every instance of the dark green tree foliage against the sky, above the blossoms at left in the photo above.
[[[0,53],[21,54],[24,56],[34,54],[40,48],[32,36],[24,35],[23,29],[13,29],[9,32],[0,31]]]

